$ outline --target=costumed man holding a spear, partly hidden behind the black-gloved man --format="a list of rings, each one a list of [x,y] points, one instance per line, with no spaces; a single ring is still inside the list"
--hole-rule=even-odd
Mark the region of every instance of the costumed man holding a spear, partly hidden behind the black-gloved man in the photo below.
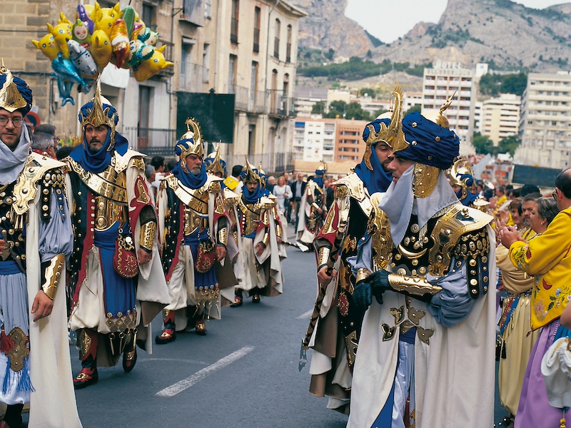
[[[395,93],[402,96],[398,88]],[[397,110],[395,121],[400,120],[400,98]],[[356,254],[357,243],[365,235],[373,208],[370,194],[384,192],[392,180],[386,170],[392,153],[387,140],[394,133],[394,127],[389,128],[390,118],[376,119],[365,126],[363,161],[354,173],[334,183],[333,205],[313,241],[319,292],[302,347],[313,349],[310,392],[317,397],[328,395],[328,407],[339,412],[349,410],[351,372],[363,320],[363,310],[357,310],[353,303],[355,277],[347,258]]]

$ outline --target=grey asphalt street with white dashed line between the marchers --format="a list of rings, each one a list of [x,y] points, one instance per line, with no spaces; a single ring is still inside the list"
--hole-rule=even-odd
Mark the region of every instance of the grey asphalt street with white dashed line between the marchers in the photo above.
[[[314,255],[288,248],[284,268],[283,295],[223,308],[206,337],[181,333],[153,345],[153,355],[139,352],[130,374],[121,363],[101,368],[97,384],[76,392],[84,428],[345,427],[345,415],[308,392],[309,365],[298,372],[315,300]],[[160,328],[157,318],[153,335]],[[75,349],[71,357],[77,374]]]

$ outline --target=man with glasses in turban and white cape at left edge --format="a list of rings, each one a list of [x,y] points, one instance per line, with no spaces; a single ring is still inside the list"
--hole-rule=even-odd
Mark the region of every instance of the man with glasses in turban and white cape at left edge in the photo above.
[[[73,232],[64,163],[30,153],[31,89],[0,67],[1,428],[81,427],[71,382],[65,264]]]

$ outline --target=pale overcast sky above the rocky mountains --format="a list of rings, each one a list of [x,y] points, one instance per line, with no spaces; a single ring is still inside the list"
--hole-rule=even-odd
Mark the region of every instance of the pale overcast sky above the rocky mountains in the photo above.
[[[571,0],[513,0],[535,9]],[[420,21],[438,22],[447,0],[348,0],[345,15],[385,43],[408,33]]]

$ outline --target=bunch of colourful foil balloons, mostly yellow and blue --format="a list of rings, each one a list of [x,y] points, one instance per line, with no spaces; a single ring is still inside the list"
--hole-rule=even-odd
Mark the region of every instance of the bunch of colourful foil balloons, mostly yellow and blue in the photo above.
[[[76,21],[71,22],[63,12],[56,26],[48,26],[48,34],[31,42],[51,61],[62,98],[75,105],[71,89],[89,93],[91,85],[108,63],[117,68],[131,68],[139,82],[154,76],[163,68],[173,66],[166,61],[166,46],[156,47],[158,33],[145,26],[131,6],[121,9],[94,5],[77,6]]]

